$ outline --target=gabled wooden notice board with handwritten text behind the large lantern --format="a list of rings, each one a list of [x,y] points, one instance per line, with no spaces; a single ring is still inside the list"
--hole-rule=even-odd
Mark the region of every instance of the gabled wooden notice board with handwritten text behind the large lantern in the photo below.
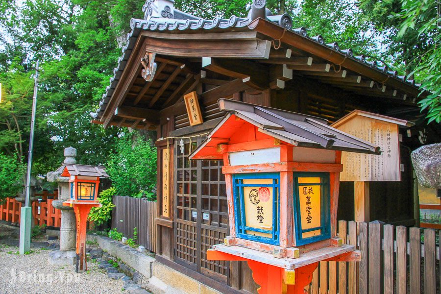
[[[412,123],[354,110],[333,127],[381,148],[381,155],[342,152],[340,181],[400,181],[399,125]]]

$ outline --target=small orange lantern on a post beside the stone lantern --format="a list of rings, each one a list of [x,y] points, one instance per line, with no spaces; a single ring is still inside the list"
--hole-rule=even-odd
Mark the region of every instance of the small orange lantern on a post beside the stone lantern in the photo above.
[[[73,207],[76,217],[76,272],[86,269],[86,226],[92,207],[100,207],[98,185],[100,177],[109,177],[104,167],[63,164],[61,176],[69,177],[70,197],[63,205]]]

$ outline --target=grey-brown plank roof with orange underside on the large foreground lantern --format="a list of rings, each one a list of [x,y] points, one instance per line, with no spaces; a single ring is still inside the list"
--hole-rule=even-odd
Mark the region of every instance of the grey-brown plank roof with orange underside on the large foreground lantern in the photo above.
[[[329,126],[325,119],[230,99],[219,99],[218,103],[220,110],[227,114],[190,154],[192,159],[218,158],[218,145],[228,144],[229,139],[244,127],[244,123],[252,124],[259,132],[296,147],[381,153],[380,147]]]

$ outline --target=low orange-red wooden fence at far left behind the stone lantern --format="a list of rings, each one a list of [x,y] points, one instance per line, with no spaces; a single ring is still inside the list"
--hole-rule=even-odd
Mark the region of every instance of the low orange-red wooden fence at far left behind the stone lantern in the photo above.
[[[47,190],[42,193],[35,193],[35,196],[41,197],[41,202],[32,202],[32,216],[36,225],[60,227],[61,211],[52,207],[52,201],[58,199],[58,191],[50,194]],[[10,222],[20,222],[20,209],[22,203],[15,198],[6,198],[0,204],[0,220]]]

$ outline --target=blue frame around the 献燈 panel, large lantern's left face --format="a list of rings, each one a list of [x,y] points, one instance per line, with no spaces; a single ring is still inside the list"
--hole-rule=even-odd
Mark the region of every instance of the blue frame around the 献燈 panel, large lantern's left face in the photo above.
[[[244,179],[272,179],[272,184],[244,184]],[[271,187],[273,190],[272,203],[272,230],[265,230],[246,226],[244,187]],[[262,172],[246,173],[233,175],[233,198],[234,198],[234,218],[236,222],[236,236],[242,239],[279,245],[280,228],[280,173]],[[246,231],[271,234],[271,238],[247,234]]]

